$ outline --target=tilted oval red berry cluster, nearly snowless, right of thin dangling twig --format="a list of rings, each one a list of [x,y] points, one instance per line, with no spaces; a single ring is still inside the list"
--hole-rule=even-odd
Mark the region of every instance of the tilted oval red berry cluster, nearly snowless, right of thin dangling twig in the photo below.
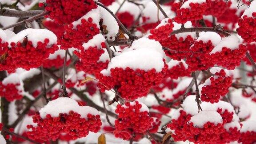
[[[215,76],[206,80],[207,85],[203,85],[201,90],[201,100],[206,102],[217,103],[220,96],[225,96],[228,93],[228,88],[232,84],[232,78],[226,76],[222,69],[220,73],[216,72]],[[204,83],[205,84],[205,83]]]

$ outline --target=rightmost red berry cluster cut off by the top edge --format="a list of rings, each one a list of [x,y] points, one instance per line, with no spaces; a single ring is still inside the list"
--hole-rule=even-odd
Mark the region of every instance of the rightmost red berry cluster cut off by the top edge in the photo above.
[[[209,0],[210,7],[206,9],[204,15],[212,15],[215,17],[220,17],[226,10],[231,6],[231,1],[225,0]]]

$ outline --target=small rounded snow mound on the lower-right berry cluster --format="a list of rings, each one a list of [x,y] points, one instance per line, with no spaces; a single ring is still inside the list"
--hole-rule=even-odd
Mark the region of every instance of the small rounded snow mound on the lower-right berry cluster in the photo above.
[[[219,123],[222,123],[222,117],[216,111],[203,110],[203,111],[200,111],[195,116],[192,116],[190,120],[190,122],[193,123],[194,127],[199,127],[199,128],[204,128],[204,124],[206,124],[208,121],[217,125]]]

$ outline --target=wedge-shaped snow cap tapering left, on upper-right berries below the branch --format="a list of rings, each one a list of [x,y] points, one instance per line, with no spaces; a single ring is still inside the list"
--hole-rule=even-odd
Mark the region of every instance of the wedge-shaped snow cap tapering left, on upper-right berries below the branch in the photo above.
[[[210,54],[216,53],[216,52],[221,52],[223,47],[230,48],[231,50],[235,50],[236,48],[239,48],[240,40],[236,35],[231,35],[228,37],[224,37],[219,44],[216,45],[212,49],[212,52]]]

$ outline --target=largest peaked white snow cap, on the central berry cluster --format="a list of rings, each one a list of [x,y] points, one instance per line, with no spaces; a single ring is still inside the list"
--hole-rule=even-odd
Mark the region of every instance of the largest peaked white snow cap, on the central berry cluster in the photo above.
[[[132,49],[115,56],[108,64],[108,68],[102,70],[101,73],[109,76],[111,68],[125,69],[127,67],[132,68],[133,70],[139,68],[144,71],[155,68],[156,72],[161,72],[164,68],[164,56],[161,45],[154,40],[152,41],[144,38],[137,42],[134,41],[134,43]]]

